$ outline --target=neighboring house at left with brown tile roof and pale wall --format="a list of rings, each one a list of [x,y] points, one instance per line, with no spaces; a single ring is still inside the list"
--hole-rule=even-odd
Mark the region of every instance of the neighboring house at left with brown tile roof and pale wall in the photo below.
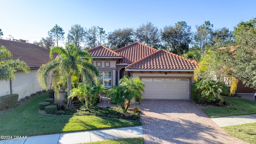
[[[6,47],[12,53],[13,59],[26,62],[31,69],[29,74],[17,71],[14,81],[0,81],[0,96],[13,92],[19,94],[19,99],[21,99],[43,90],[38,84],[36,74],[40,66],[51,60],[49,58],[50,50],[35,44],[2,39],[0,39],[0,46]],[[48,77],[48,89],[50,89],[50,84],[51,74]]]

